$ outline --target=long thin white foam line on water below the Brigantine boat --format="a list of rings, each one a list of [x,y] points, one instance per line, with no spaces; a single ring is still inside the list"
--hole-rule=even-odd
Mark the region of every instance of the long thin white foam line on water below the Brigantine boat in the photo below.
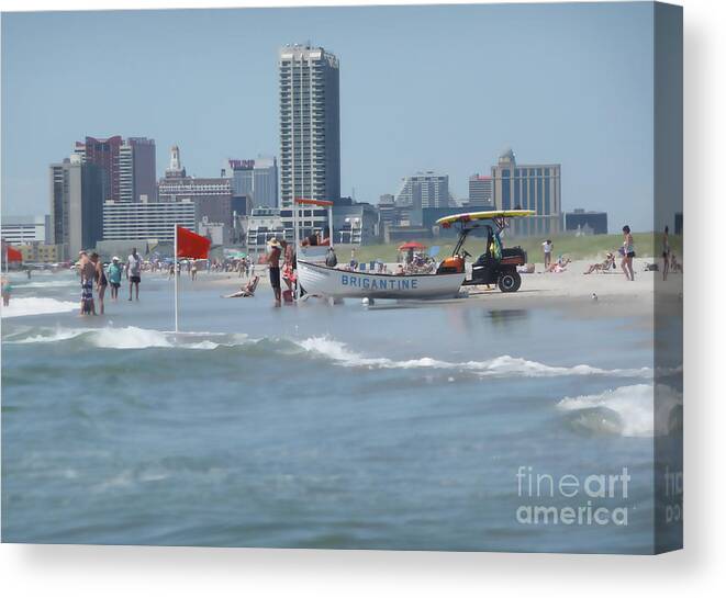
[[[557,366],[537,361],[529,361],[511,356],[500,356],[484,361],[450,362],[429,357],[410,360],[393,360],[389,358],[365,357],[349,350],[345,343],[327,337],[313,337],[299,341],[306,351],[319,353],[349,368],[380,369],[432,369],[469,371],[481,376],[523,375],[528,377],[566,376],[566,375],[610,375],[622,377],[652,377],[650,368],[603,370],[591,365]]]

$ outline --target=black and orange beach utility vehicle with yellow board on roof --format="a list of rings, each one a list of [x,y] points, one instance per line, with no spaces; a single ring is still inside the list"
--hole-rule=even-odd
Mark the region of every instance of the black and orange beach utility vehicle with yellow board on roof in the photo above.
[[[467,258],[472,258],[463,244],[472,230],[483,229],[487,235],[484,252],[471,264],[471,278],[465,285],[496,284],[502,293],[514,293],[522,285],[518,266],[527,262],[527,252],[521,247],[502,247],[501,232],[507,226],[507,219],[534,214],[530,210],[506,210],[454,214],[439,218],[437,224],[444,228],[458,225],[459,238],[451,257],[438,267],[438,273],[465,272]]]

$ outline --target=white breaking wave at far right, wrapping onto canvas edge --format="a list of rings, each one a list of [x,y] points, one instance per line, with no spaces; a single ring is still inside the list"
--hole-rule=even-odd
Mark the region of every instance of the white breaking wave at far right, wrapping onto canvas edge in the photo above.
[[[651,438],[682,426],[683,395],[664,384],[634,384],[596,395],[566,397],[557,407],[567,411],[570,424],[579,429]]]

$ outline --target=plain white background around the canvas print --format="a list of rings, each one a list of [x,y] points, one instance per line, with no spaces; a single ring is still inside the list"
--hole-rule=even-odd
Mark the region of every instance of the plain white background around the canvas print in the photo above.
[[[396,3],[404,3],[405,0]],[[305,4],[214,0],[211,5]],[[310,3],[310,2],[308,2]],[[354,3],[314,0],[316,4]],[[365,3],[365,2],[358,2]],[[378,0],[377,3],[387,3]],[[199,0],[63,3],[0,0],[5,10],[166,8]],[[0,546],[5,596],[724,596],[726,586],[726,392],[724,330],[726,5],[685,1],[686,550],[659,557]],[[710,278],[711,277],[711,278]],[[721,280],[719,280],[721,278]]]

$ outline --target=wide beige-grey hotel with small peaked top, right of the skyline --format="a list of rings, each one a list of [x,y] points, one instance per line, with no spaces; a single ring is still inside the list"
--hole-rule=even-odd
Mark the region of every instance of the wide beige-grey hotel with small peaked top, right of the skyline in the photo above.
[[[512,219],[515,235],[555,235],[562,230],[560,165],[521,165],[507,149],[492,167],[495,210],[534,210],[536,215]]]

